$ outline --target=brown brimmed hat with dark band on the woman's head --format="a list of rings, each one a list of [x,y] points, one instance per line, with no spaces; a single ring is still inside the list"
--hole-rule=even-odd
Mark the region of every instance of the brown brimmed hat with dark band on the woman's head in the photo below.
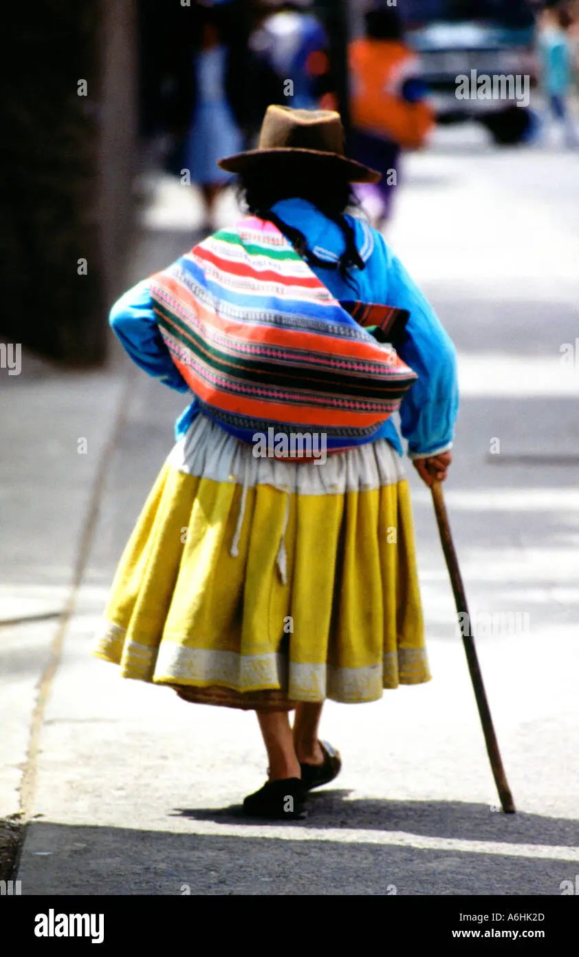
[[[381,173],[349,160],[344,153],[344,127],[332,110],[294,110],[268,106],[257,149],[227,156],[218,166],[230,173],[262,168],[271,157],[290,153],[309,156],[340,169],[350,183],[377,183]]]

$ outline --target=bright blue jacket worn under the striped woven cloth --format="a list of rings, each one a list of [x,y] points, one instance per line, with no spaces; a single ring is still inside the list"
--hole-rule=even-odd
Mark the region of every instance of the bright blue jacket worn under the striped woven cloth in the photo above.
[[[306,236],[315,255],[329,265],[335,263],[344,251],[341,230],[306,200],[282,200],[275,204],[273,211],[289,226],[297,227]],[[455,347],[436,313],[382,235],[365,219],[348,218],[366,267],[353,270],[351,282],[354,285],[342,279],[335,269],[311,268],[337,300],[375,302],[410,312],[407,338],[397,346],[397,352],[418,372],[418,382],[402,400],[400,429],[408,442],[411,458],[444,452],[452,446],[459,410]],[[111,310],[110,322],[121,344],[140,368],[171,389],[189,391],[162,340],[146,279],[121,296]],[[177,439],[185,434],[199,412],[200,407],[194,398],[176,423]],[[379,437],[386,438],[399,455],[403,455],[394,419],[388,419],[373,440]]]

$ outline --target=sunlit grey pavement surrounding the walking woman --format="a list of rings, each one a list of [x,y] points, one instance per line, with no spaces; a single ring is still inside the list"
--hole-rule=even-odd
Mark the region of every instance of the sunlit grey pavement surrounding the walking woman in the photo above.
[[[26,357],[21,376],[0,370],[0,817],[30,822],[23,894],[558,895],[579,873],[579,355],[561,361],[579,336],[578,187],[576,156],[445,132],[409,160],[390,235],[460,350],[446,496],[515,816],[496,811],[414,475],[434,680],[330,702],[335,787],[303,825],[247,824],[236,806],[265,778],[254,716],[186,705],[89,654],[182,398],[117,354],[91,376]],[[128,283],[190,244],[182,195],[158,187]]]

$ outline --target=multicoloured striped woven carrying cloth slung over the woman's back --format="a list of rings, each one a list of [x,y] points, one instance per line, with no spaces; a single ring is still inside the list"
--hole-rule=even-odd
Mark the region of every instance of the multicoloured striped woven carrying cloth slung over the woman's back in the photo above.
[[[323,432],[330,449],[371,441],[418,378],[360,324],[387,332],[400,310],[351,303],[350,315],[286,237],[255,217],[205,239],[150,289],[163,340],[202,409],[247,442],[271,426]]]

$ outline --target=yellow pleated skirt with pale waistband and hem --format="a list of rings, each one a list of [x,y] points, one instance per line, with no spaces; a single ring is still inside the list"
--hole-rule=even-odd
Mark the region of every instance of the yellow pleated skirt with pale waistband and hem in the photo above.
[[[428,681],[396,451],[380,439],[324,464],[255,458],[199,415],[125,547],[95,654],[244,709]]]

